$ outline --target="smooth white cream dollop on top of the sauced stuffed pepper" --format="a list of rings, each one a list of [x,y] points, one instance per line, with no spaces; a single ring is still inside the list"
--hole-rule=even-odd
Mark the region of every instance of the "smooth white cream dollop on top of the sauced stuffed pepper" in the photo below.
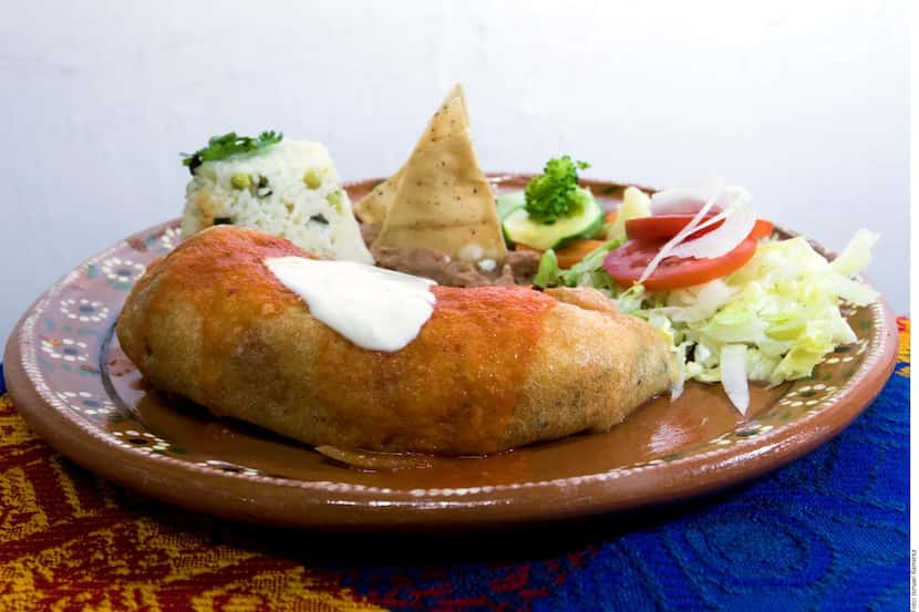
[[[272,257],[265,266],[310,314],[370,351],[399,351],[431,319],[433,280],[359,263]]]

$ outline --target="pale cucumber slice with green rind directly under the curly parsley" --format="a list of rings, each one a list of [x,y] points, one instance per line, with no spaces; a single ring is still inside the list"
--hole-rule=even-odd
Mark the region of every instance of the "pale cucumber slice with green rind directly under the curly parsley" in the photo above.
[[[507,196],[510,195],[515,194],[508,194]],[[523,201],[523,191],[520,191],[519,197]],[[584,211],[580,215],[558,219],[553,225],[534,221],[523,206],[512,209],[506,216],[502,217],[502,220],[504,235],[509,241],[547,250],[564,247],[568,242],[580,238],[591,238],[603,225],[603,209],[591,197],[585,204]]]

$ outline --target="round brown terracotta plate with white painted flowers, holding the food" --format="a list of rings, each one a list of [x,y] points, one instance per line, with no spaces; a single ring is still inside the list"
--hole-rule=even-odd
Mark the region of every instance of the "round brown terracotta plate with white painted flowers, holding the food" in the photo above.
[[[525,177],[495,176],[497,189]],[[349,186],[357,200],[375,181]],[[608,207],[622,186],[592,183]],[[113,334],[127,291],[175,247],[166,222],[93,257],[24,314],[6,352],[20,412],[54,448],[126,487],[192,510],[323,528],[444,529],[559,519],[695,496],[756,477],[828,440],[879,393],[896,357],[882,303],[848,313],[858,342],[809,380],[754,388],[743,419],[717,386],[659,398],[607,434],[486,458],[359,471],[307,446],[145,387]],[[190,409],[189,409],[190,408]]]

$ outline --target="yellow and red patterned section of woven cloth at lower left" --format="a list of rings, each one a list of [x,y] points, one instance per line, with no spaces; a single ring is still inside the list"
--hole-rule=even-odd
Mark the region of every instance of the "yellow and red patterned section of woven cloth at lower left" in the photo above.
[[[93,477],[0,396],[0,610],[382,610],[331,571],[220,533],[245,529]]]

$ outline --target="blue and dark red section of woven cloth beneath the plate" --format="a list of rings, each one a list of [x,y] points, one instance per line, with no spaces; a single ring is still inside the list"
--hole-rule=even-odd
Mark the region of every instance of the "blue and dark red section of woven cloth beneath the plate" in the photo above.
[[[908,342],[909,321],[900,323]],[[901,350],[865,414],[778,471],[691,504],[523,531],[290,533],[189,517],[133,494],[112,504],[158,521],[171,537],[206,533],[220,546],[320,571],[357,601],[391,610],[903,610],[908,413],[909,355]],[[159,587],[161,603],[182,601]]]

